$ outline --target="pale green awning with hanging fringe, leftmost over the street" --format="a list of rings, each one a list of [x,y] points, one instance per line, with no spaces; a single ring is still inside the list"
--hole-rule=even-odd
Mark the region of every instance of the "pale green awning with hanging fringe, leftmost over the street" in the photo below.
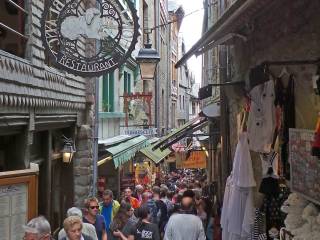
[[[106,151],[112,154],[114,166],[117,168],[121,164],[129,161],[136,152],[149,145],[145,136],[138,136],[114,147],[107,148]]]

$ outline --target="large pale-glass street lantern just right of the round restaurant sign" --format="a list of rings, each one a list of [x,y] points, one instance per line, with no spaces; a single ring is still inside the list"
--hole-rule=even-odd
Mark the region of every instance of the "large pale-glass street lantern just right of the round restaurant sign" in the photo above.
[[[154,74],[157,68],[157,64],[160,61],[159,53],[156,49],[151,48],[149,33],[147,33],[147,43],[144,44],[144,48],[139,50],[136,61],[140,66],[140,74],[142,80],[153,80]]]

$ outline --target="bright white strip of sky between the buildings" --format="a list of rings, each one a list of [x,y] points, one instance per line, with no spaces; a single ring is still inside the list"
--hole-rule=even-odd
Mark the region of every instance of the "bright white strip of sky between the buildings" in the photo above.
[[[180,33],[182,34],[186,50],[188,51],[200,38],[203,21],[203,1],[202,0],[177,0],[179,5],[183,6],[186,16],[181,25]],[[201,83],[201,56],[193,56],[188,60],[190,70],[195,74],[196,83]]]

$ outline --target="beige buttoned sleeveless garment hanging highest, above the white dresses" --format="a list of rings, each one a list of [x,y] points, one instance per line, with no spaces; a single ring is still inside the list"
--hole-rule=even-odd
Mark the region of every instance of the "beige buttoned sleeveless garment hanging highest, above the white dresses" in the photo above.
[[[250,91],[251,108],[248,117],[250,150],[268,153],[271,150],[275,121],[275,92],[272,80]]]

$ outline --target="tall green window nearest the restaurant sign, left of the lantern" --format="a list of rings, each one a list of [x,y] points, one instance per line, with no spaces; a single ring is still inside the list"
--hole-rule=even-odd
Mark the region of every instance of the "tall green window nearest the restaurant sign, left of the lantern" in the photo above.
[[[114,72],[103,76],[102,111],[114,112]]]

